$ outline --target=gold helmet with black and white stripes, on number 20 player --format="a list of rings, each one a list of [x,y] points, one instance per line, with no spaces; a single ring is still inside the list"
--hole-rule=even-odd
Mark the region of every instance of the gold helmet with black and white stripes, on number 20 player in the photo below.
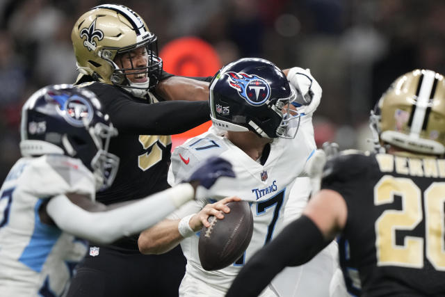
[[[445,79],[414,70],[391,84],[371,111],[375,148],[384,144],[417,154],[445,153]]]

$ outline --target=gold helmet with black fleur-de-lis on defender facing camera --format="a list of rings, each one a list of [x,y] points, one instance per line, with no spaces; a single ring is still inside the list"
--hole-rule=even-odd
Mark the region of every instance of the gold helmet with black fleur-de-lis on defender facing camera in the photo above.
[[[162,61],[157,56],[156,35],[126,6],[104,4],[92,8],[74,24],[71,39],[81,74],[120,86],[138,97],[144,97],[158,82]],[[147,61],[143,65],[134,61],[138,50]],[[122,66],[122,58],[129,61],[129,67]]]

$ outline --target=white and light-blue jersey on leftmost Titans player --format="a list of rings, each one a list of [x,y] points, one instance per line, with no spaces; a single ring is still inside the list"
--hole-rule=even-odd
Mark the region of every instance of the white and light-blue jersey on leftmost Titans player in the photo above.
[[[63,155],[22,158],[0,189],[0,295],[61,296],[86,242],[40,221],[39,208],[54,195],[95,199],[92,173]]]

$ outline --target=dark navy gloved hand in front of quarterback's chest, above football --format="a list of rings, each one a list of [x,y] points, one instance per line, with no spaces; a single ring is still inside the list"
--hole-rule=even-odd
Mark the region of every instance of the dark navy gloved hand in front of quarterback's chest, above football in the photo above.
[[[211,187],[220,177],[235,177],[232,164],[223,158],[211,156],[192,173],[186,182],[195,187],[195,200],[223,198],[223,196],[211,191]]]

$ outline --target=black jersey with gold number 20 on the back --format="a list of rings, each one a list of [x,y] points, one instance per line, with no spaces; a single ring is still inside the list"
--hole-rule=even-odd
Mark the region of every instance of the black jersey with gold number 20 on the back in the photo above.
[[[362,296],[445,296],[444,159],[345,153],[322,188],[346,201],[343,272],[358,269]]]

